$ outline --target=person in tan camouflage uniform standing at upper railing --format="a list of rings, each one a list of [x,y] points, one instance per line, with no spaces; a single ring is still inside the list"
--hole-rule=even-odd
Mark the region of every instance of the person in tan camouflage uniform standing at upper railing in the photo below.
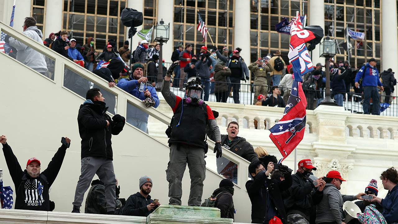
[[[260,57],[256,62],[249,65],[249,70],[252,71],[252,75],[255,77],[253,102],[253,104],[255,104],[259,94],[267,94],[267,73],[272,72],[273,68],[266,58],[262,59]]]

